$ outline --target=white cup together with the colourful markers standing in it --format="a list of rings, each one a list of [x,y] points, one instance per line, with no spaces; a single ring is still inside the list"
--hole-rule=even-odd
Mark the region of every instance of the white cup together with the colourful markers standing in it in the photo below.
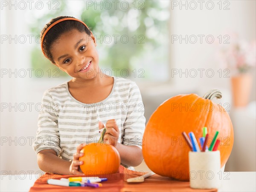
[[[201,150],[193,132],[189,133],[189,137],[185,132],[182,133],[191,150],[189,151],[189,181],[191,188],[218,189],[221,185],[221,180],[218,177],[218,173],[221,170],[218,133],[216,131],[208,148],[209,135],[207,134],[207,127],[204,127],[203,137],[200,138]]]

